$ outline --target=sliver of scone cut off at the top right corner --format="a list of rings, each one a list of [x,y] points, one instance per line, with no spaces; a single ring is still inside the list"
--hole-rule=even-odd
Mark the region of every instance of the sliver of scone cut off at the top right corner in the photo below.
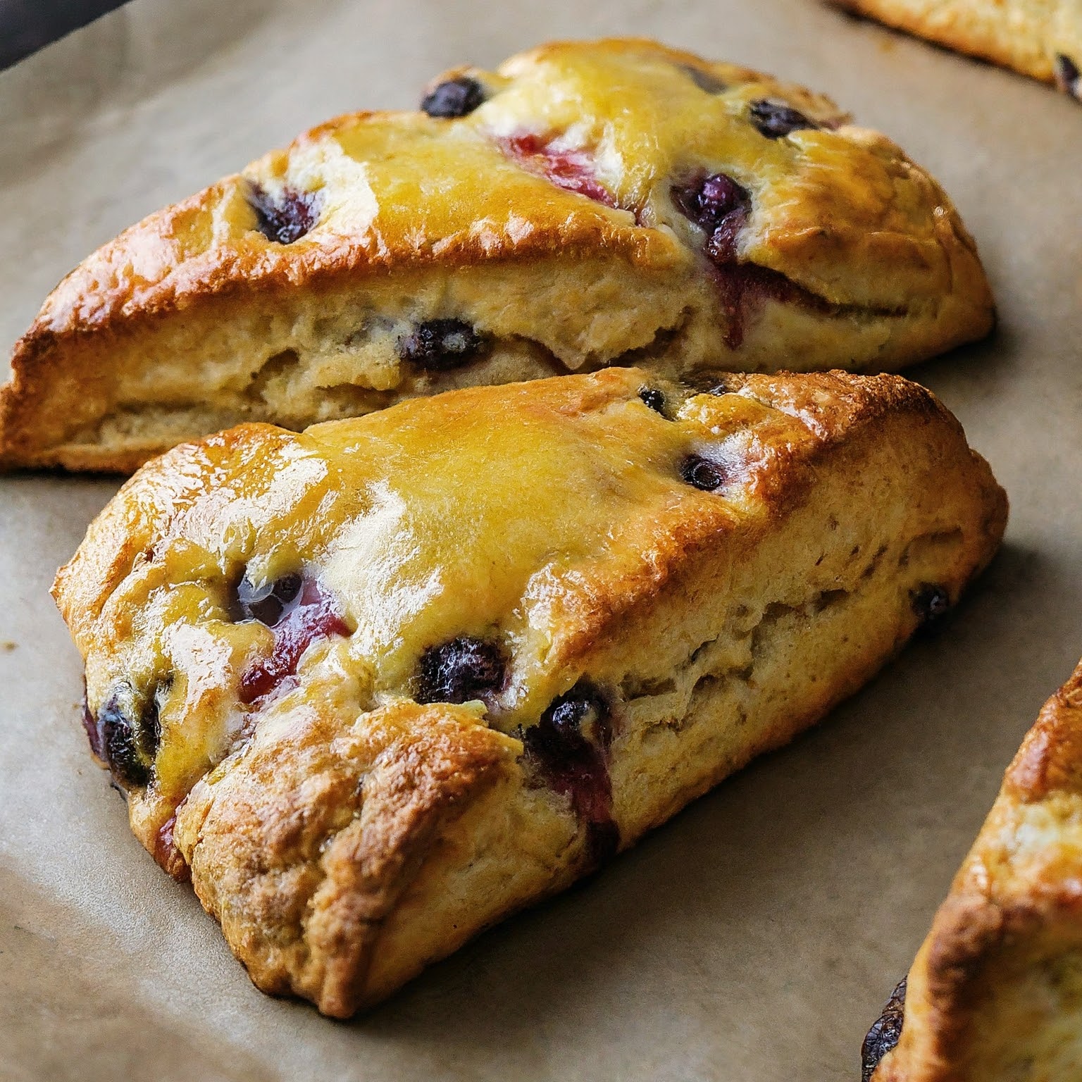
[[[1082,0],[832,0],[1082,100]]]

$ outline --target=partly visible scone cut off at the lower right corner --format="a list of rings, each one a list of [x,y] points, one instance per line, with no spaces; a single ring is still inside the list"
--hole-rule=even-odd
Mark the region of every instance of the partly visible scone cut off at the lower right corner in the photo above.
[[[863,1066],[866,1082],[1082,1079],[1082,664],[1008,767]]]

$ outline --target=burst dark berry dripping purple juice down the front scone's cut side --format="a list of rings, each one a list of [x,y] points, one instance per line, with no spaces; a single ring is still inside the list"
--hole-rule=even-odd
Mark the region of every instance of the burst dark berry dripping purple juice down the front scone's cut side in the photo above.
[[[607,764],[610,713],[605,695],[590,681],[580,679],[523,734],[527,762],[556,792],[570,799],[583,821],[594,863],[620,846]]]

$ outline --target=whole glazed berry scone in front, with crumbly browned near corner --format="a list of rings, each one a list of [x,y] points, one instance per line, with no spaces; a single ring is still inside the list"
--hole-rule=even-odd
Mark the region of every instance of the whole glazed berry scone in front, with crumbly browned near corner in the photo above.
[[[91,743],[255,984],[346,1016],[856,690],[1006,504],[898,377],[606,369],[242,425],[61,570]]]

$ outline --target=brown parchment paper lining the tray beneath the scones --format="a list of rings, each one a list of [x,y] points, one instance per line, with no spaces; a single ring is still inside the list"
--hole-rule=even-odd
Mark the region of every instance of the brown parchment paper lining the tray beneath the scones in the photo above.
[[[4,1080],[859,1077],[868,1024],[1082,652],[1082,108],[816,0],[135,0],[0,76],[0,342],[94,247],[302,129],[412,107],[452,64],[608,34],[826,90],[946,184],[1001,328],[914,374],[1011,493],[1002,555],[818,729],[343,1025],[252,988],[92,765],[47,589],[116,483],[0,479]]]

